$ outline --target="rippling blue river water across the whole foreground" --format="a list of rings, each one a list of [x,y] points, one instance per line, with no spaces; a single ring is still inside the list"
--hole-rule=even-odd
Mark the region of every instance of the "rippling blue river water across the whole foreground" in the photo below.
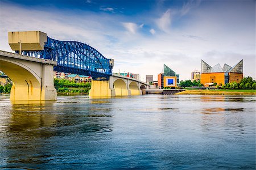
[[[0,168],[255,169],[255,96],[0,96]]]

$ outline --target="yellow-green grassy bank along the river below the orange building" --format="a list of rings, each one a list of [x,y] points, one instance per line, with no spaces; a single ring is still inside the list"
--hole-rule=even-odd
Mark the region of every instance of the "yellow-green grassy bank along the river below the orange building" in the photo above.
[[[256,95],[256,90],[186,90],[176,95]]]

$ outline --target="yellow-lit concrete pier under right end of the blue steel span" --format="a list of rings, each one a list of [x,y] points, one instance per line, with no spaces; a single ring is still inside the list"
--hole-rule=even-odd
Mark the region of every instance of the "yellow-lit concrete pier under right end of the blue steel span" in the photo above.
[[[110,88],[111,80],[92,80],[92,86],[90,87],[89,96],[91,97],[109,97],[113,90]]]

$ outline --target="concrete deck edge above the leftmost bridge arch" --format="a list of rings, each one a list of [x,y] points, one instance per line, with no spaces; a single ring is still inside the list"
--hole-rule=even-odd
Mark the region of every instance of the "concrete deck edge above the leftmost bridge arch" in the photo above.
[[[17,58],[17,59],[24,59],[27,61],[32,61],[32,62],[40,62],[40,63],[48,63],[51,65],[57,65],[56,61],[52,61],[51,59],[41,59],[41,58],[35,58],[35,57],[29,57],[29,56],[24,56],[16,53],[10,53],[10,52],[5,52],[0,50],[0,57],[11,57],[11,58]]]

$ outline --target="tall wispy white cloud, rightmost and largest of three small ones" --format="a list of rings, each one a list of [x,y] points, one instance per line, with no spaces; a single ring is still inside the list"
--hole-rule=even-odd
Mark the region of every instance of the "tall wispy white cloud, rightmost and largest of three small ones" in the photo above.
[[[156,20],[156,24],[158,25],[159,29],[162,31],[169,33],[171,27],[171,10],[168,9],[161,18]]]

